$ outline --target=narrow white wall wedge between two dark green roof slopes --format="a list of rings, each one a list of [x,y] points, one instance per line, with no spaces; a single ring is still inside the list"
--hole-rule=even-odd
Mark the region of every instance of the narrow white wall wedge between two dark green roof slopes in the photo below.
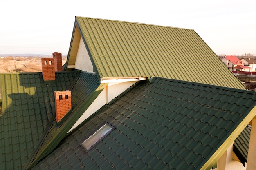
[[[106,86],[106,88],[103,89],[103,91],[99,94],[99,96],[92,102],[88,109],[85,110],[85,112],[79,118],[79,120],[76,121],[76,123],[69,130],[69,132],[76,128],[79,124],[81,124],[90,115],[99,110],[103,105],[107,104],[112,99],[123,93],[127,88],[129,88],[133,84],[135,84],[135,82],[109,83]]]

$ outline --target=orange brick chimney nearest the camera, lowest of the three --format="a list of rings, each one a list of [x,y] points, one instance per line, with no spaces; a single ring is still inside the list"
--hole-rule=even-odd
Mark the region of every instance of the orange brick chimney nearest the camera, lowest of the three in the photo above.
[[[57,123],[70,111],[71,109],[71,92],[54,91],[55,111]]]

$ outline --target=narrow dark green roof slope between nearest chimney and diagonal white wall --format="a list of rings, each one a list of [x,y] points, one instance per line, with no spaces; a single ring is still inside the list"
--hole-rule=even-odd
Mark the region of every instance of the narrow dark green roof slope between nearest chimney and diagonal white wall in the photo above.
[[[99,89],[100,86],[99,79],[95,73],[81,71],[74,86],[70,89],[72,112],[66,117],[66,120],[61,125],[58,125],[56,121],[53,122],[52,127],[49,129],[49,133],[45,137],[43,144],[40,146],[32,164],[37,163],[37,161],[54,150],[59,142],[67,135],[70,128],[72,128],[76,121],[99,95],[102,90]]]

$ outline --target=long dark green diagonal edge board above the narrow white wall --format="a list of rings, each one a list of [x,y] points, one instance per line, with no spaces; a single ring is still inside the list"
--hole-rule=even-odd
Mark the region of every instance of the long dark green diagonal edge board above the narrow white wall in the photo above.
[[[35,166],[36,163],[38,163],[41,159],[43,159],[45,156],[50,154],[52,152],[52,150],[54,150],[54,148],[56,148],[56,146],[58,146],[58,144],[61,142],[61,140],[67,135],[67,132],[70,130],[70,128],[72,128],[72,126],[76,123],[76,121],[79,119],[79,117],[81,117],[81,115],[83,115],[85,110],[88,109],[88,107],[99,96],[101,91],[103,91],[103,89],[106,88],[107,85],[108,85],[108,83],[100,84],[99,87],[90,96],[90,98],[82,104],[82,107],[80,107],[79,110],[76,111],[76,114],[73,114],[72,117],[70,117],[65,122],[63,122],[61,127],[59,127],[59,129],[58,129],[59,132],[57,132],[57,134],[54,135],[51,142],[49,142],[47,144],[47,147],[44,148],[43,151],[39,153],[39,155],[36,155],[34,161],[29,166],[29,169],[32,168],[33,166]]]

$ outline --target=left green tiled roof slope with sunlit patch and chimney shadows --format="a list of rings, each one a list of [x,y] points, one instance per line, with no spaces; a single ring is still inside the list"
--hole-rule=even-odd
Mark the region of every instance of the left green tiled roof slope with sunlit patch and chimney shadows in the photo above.
[[[56,73],[55,84],[45,84],[42,73],[0,74],[0,169],[24,168],[55,118],[53,92],[71,88],[77,73]]]

